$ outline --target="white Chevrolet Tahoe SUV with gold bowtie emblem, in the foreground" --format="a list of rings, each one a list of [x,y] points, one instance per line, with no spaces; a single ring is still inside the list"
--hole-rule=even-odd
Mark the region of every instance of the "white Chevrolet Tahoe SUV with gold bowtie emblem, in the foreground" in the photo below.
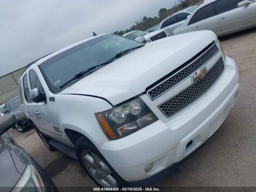
[[[150,44],[102,34],[28,64],[19,93],[49,150],[77,158],[99,186],[143,186],[216,132],[238,79],[211,31]]]

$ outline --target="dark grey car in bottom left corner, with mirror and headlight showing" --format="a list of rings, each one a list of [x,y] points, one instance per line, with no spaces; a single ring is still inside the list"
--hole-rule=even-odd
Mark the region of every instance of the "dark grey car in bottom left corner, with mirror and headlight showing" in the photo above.
[[[54,192],[55,184],[41,166],[21,147],[7,130],[16,124],[12,114],[0,117],[1,192]]]

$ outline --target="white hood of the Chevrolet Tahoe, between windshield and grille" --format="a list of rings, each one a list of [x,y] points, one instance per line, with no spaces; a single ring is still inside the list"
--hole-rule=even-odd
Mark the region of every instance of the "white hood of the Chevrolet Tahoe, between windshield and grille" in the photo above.
[[[138,94],[216,40],[211,31],[180,34],[146,44],[82,78],[59,94],[84,94],[113,105]]]

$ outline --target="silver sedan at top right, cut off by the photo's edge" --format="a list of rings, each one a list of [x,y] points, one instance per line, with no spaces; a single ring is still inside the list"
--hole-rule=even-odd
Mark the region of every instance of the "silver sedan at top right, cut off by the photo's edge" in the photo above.
[[[224,36],[255,26],[255,0],[208,0],[198,5],[173,33],[212,30],[217,36]]]

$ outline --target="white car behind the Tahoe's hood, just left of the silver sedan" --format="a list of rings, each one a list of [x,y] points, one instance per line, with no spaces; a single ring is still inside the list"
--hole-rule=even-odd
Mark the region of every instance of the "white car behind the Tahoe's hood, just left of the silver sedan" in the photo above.
[[[158,30],[164,30],[166,34],[173,35],[173,30],[181,26],[197,7],[188,7],[165,18],[159,25]]]

